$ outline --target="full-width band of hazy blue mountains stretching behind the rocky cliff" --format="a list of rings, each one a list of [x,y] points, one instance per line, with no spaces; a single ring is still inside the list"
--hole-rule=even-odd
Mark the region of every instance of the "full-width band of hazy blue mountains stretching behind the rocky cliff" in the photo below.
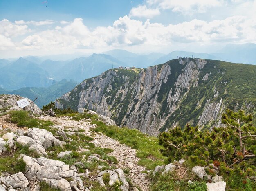
[[[48,87],[53,80],[62,79],[74,79],[81,82],[86,78],[100,75],[112,67],[146,68],[177,57],[192,57],[192,55],[203,59],[256,64],[255,52],[256,44],[248,43],[229,44],[219,52],[211,54],[173,51],[168,55],[162,53],[140,55],[116,49],[88,57],[83,57],[83,53],[74,53],[73,55],[27,56],[15,61],[0,59],[0,87],[10,90],[31,86]],[[71,59],[74,57],[78,58]],[[59,61],[52,60],[55,58]]]

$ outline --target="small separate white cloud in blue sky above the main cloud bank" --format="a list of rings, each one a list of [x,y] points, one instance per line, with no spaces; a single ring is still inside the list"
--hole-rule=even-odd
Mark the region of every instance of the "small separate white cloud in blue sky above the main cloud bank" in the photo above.
[[[139,5],[138,7],[134,7],[130,10],[129,13],[129,17],[153,18],[156,15],[160,15],[159,9],[150,9],[147,8],[146,5]]]

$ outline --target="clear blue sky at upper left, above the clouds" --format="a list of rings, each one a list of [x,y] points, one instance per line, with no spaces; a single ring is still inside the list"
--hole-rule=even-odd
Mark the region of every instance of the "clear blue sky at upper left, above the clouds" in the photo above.
[[[91,27],[108,26],[128,15],[136,0],[0,0],[0,20],[74,20],[83,18]],[[45,5],[47,7],[45,7]]]

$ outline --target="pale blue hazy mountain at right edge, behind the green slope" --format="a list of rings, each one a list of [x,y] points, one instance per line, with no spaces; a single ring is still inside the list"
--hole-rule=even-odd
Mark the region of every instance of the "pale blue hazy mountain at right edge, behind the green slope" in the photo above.
[[[256,44],[228,44],[213,55],[236,63],[256,64]]]

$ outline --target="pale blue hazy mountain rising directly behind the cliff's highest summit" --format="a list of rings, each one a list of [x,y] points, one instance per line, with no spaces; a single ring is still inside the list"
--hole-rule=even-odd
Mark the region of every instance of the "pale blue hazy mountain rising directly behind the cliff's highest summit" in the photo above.
[[[207,54],[207,53],[193,53],[193,52],[186,52],[186,51],[173,51],[173,52],[169,53],[168,55],[164,55],[164,56],[160,57],[159,59],[154,61],[153,64],[155,65],[155,64],[165,63],[166,61],[169,61],[169,60],[172,60],[172,59],[177,59],[177,57],[182,57],[183,58],[183,57],[192,57],[192,56],[194,58],[227,61],[226,59],[222,59],[220,57],[216,57],[214,55]]]

